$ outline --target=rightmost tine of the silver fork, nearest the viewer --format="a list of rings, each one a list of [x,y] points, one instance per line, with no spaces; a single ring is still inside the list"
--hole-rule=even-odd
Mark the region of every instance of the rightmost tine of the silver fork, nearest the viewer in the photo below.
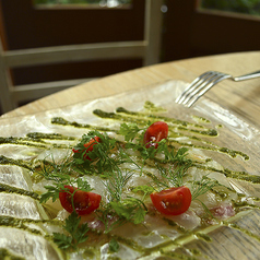
[[[192,97],[189,98],[189,101],[186,102],[186,105],[188,107],[191,107],[201,96],[203,96],[212,86],[214,86],[215,84],[217,84],[218,82],[232,78],[232,75],[228,74],[224,74],[221,72],[217,72],[218,74],[213,76],[209,82],[206,82],[204,84],[203,87],[201,87],[199,91],[197,91],[196,93],[193,93]],[[188,104],[187,104],[188,103]]]

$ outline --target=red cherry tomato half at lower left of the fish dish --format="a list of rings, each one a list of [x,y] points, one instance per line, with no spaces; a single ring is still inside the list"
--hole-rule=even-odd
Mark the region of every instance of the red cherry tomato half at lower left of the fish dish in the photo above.
[[[92,213],[93,211],[98,209],[102,200],[102,197],[94,192],[86,192],[78,190],[72,186],[64,186],[64,191],[59,192],[59,199],[61,205],[70,213],[72,213],[73,211],[72,194],[73,194],[73,205],[75,212],[79,215],[86,215]]]

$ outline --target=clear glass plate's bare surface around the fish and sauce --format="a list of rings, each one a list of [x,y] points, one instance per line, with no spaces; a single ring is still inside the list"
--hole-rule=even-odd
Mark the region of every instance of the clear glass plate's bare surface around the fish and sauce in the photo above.
[[[25,117],[1,119],[0,135],[25,137],[28,132],[59,132],[62,134],[73,134],[74,137],[80,138],[82,133],[85,132],[84,129],[74,128],[72,133],[71,127],[54,125],[50,122],[51,118],[62,117],[69,121],[76,121],[78,123],[92,123],[98,126],[98,123],[104,125],[104,121],[93,115],[92,111],[94,109],[115,111],[117,107],[125,107],[128,110],[139,111],[143,109],[144,102],[150,101],[156,106],[161,106],[167,110],[167,113],[162,115],[182,121],[188,121],[190,123],[188,129],[198,130],[198,128],[194,127],[196,123],[203,126],[205,129],[215,129],[218,132],[217,137],[205,137],[198,133],[192,133],[193,135],[201,139],[194,143],[198,145],[198,150],[200,150],[200,145],[210,147],[206,150],[202,149],[203,153],[222,164],[225,168],[234,170],[234,173],[245,172],[249,175],[260,176],[259,130],[244,121],[232,111],[228,111],[227,109],[220,107],[217,104],[205,98],[201,98],[192,108],[186,108],[175,104],[175,98],[181,93],[186,85],[186,83],[180,81],[168,81],[153,86],[146,86],[137,92],[123,93],[96,101],[87,101],[85,103],[76,104],[70,107]],[[209,121],[205,121],[204,119],[208,119]],[[4,145],[0,146],[0,153],[8,156],[8,150],[3,149],[3,146]],[[232,157],[225,153],[225,151],[227,151],[225,149],[222,149],[224,153],[221,153],[221,147],[227,147],[232,151],[238,152],[236,153],[235,157]],[[14,154],[9,154],[9,156],[15,157]],[[249,156],[249,159],[247,159],[246,156]],[[2,180],[0,182],[2,182]],[[244,193],[247,197],[259,196],[259,184],[252,185],[250,181],[233,180],[232,178],[231,184],[237,189],[237,192]],[[25,187],[23,184],[20,185],[21,188]],[[12,200],[12,198],[10,198],[10,200]],[[176,252],[186,255],[188,253],[187,257],[192,255],[194,259],[208,259],[208,257],[210,259],[226,260],[238,259],[238,257],[239,259],[258,259],[260,250],[260,236],[258,235],[260,232],[260,215],[257,208],[258,201],[253,200],[252,203],[256,205],[256,209],[251,208],[250,214],[239,213],[244,216],[239,218],[235,217],[234,222],[239,227],[237,226],[237,228],[234,228],[234,226],[228,227],[225,225],[213,226],[212,228],[206,229],[206,233],[212,239],[211,241],[198,239],[198,236],[190,236],[190,238],[184,243],[184,247],[177,249]],[[249,211],[245,212],[248,213]],[[3,212],[2,214],[8,215],[9,213]],[[35,214],[36,215],[26,217],[37,218],[37,213]],[[26,236],[24,236],[24,239],[28,240],[26,244],[26,250],[28,255],[34,255],[34,257],[32,256],[32,259],[48,259],[49,252],[46,252],[48,251],[46,250],[46,247],[50,247],[48,243],[45,244],[42,240],[33,241],[32,237]],[[14,240],[15,246],[13,245]],[[12,252],[17,252],[23,250],[20,248],[20,246],[21,245],[17,239],[10,238],[10,236],[1,231],[0,248],[9,247],[9,250]],[[35,246],[39,247],[39,250],[43,251],[42,255],[35,252]],[[24,245],[21,247],[24,247]],[[199,249],[201,255],[197,256],[193,249]],[[51,251],[52,249],[49,250]],[[155,253],[154,259],[156,259],[158,256],[159,253]],[[151,259],[151,257],[152,256],[147,257],[147,259]],[[173,259],[175,258],[173,257]]]

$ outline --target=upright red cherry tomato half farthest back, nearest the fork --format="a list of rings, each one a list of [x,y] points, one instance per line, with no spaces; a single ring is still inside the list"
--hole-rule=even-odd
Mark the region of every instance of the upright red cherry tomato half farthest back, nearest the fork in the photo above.
[[[145,147],[149,149],[158,146],[158,142],[168,137],[168,125],[163,121],[152,123],[145,131],[143,142]]]

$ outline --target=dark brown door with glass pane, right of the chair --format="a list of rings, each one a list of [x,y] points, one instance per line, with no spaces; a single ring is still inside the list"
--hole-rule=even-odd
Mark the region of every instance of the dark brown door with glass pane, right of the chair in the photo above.
[[[164,61],[260,50],[259,0],[167,0],[166,4]]]

